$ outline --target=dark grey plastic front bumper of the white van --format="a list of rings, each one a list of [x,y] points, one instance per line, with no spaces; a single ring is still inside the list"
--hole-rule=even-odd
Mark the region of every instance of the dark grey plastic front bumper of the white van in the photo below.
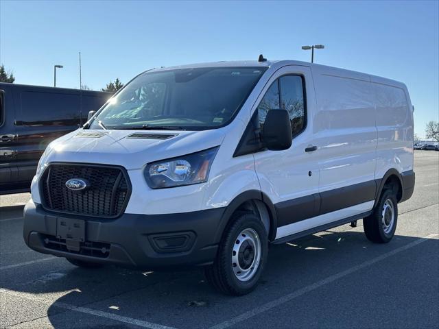
[[[43,254],[140,269],[209,265],[217,254],[225,208],[167,215],[123,214],[96,219],[57,214],[29,201],[24,209],[23,237]],[[86,241],[72,251],[57,239],[58,219],[85,221]],[[102,252],[100,252],[102,250]]]

